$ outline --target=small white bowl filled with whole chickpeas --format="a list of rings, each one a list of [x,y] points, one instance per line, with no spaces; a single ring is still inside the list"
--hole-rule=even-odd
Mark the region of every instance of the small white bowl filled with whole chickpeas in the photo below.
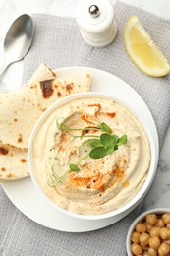
[[[128,256],[170,256],[170,209],[142,213],[127,235]]]

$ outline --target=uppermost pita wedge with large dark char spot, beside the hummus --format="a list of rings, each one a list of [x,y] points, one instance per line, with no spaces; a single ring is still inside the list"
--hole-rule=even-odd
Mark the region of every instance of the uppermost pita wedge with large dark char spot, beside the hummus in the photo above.
[[[17,149],[28,149],[31,130],[52,103],[63,96],[89,89],[89,76],[76,79],[57,78],[27,85],[0,94],[0,142]]]

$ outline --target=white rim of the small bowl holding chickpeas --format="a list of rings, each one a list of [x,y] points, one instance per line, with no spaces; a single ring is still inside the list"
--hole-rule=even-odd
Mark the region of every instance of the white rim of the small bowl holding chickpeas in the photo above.
[[[128,230],[128,234],[127,234],[127,240],[126,240],[126,247],[127,247],[127,254],[128,256],[134,256],[134,254],[131,251],[131,236],[133,231],[135,230],[135,226],[136,224],[138,224],[139,222],[141,222],[146,215],[148,214],[164,214],[164,213],[170,213],[170,209],[169,208],[154,208],[154,209],[150,209],[146,212],[143,212],[130,226],[129,230]]]

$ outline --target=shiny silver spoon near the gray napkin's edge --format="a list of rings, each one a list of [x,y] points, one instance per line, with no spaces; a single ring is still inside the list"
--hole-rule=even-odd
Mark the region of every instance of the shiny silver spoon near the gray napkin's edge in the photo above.
[[[24,58],[33,37],[33,21],[28,14],[19,16],[8,30],[4,40],[5,63],[0,70],[0,77],[13,62]]]

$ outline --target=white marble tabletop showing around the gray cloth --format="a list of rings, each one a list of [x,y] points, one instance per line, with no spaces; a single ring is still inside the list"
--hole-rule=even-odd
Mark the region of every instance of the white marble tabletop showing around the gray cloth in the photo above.
[[[170,20],[169,0],[123,0],[158,16]],[[0,68],[3,65],[3,40],[11,23],[21,14],[47,13],[60,16],[75,16],[79,0],[0,0]],[[114,2],[114,0],[113,0]],[[170,61],[170,60],[169,60]],[[0,81],[1,89],[21,87],[23,61],[11,65]],[[170,208],[170,128],[160,154],[159,166],[143,206]]]

